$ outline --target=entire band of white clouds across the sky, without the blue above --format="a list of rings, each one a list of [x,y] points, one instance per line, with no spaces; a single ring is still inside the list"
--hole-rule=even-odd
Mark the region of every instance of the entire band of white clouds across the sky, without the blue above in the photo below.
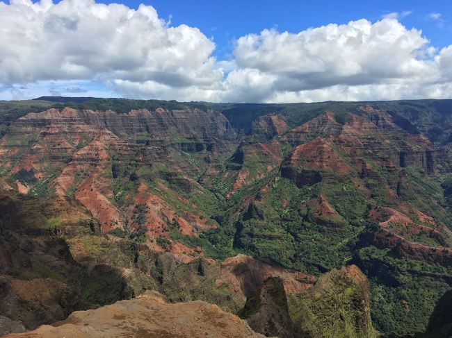
[[[40,85],[42,94],[179,101],[452,97],[452,46],[437,50],[403,26],[398,20],[410,13],[299,33],[266,29],[239,37],[233,57],[216,60],[211,39],[171,26],[152,6],[0,2],[0,97],[42,92]]]

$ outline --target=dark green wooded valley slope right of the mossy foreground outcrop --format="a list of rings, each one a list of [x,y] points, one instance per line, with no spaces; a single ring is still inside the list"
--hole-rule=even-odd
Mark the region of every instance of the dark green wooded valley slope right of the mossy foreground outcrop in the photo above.
[[[381,332],[423,332],[439,297],[449,289],[452,268],[399,259],[389,249],[362,248],[360,265],[370,276],[372,319]],[[376,267],[380,267],[377,272]]]

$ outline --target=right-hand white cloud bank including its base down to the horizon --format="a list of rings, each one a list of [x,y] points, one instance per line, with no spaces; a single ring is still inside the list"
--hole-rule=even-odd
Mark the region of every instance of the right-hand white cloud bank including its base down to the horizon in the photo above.
[[[450,96],[431,90],[448,81],[449,53],[437,53],[421,31],[397,19],[361,19],[296,34],[264,30],[240,37],[234,51],[241,71],[273,76],[266,101],[278,102]]]

